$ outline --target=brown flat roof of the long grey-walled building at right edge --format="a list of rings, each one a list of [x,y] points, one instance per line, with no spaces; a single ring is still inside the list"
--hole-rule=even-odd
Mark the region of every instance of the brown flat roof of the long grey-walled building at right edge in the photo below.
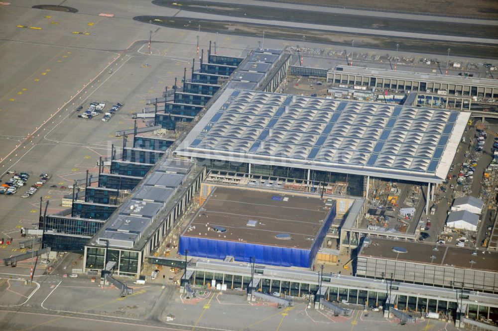
[[[371,238],[369,247],[362,247],[360,256],[385,258],[390,260],[408,261],[423,264],[436,264],[454,266],[457,268],[471,268],[487,271],[498,271],[498,253],[462,248],[450,245],[437,245],[435,243],[399,241],[389,239]],[[406,253],[396,253],[393,247],[402,247]],[[437,247],[438,250],[434,250]],[[484,253],[483,253],[484,252]],[[431,256],[435,256],[434,259]],[[471,263],[470,261],[474,261]]]

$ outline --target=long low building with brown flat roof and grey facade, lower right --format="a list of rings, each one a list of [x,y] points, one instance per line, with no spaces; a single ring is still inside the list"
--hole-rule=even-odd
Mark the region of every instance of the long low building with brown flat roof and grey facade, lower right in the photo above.
[[[381,238],[366,242],[356,276],[498,293],[496,252]]]

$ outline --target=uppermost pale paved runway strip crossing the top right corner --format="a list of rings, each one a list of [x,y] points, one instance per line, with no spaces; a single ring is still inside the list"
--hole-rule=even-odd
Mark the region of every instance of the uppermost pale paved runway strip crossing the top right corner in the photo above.
[[[221,2],[220,0],[202,0],[202,1],[203,2],[209,1],[213,3]],[[257,1],[257,0],[226,0],[223,1],[223,3],[225,5],[227,3],[234,3],[234,4],[264,6],[275,9],[281,9],[282,7],[285,7],[286,9],[330,12],[336,14],[359,15],[359,16],[373,16],[373,17],[382,17],[382,18],[400,18],[400,19],[411,19],[418,21],[498,25],[498,20],[492,20],[492,19],[475,19],[475,18],[438,16],[438,15],[419,15],[419,14],[388,12],[388,11],[378,11],[378,10],[347,9],[347,8],[328,7],[320,5],[312,6],[312,5],[297,4],[297,3],[282,3],[282,2]]]

